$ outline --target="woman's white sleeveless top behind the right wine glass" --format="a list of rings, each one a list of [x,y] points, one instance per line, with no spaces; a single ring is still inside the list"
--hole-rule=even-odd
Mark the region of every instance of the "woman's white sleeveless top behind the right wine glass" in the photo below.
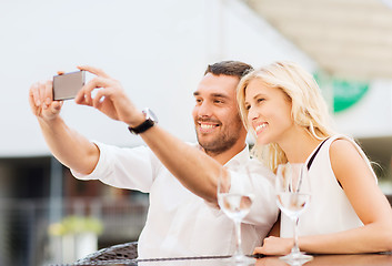
[[[334,135],[328,139],[322,144],[310,167],[312,195],[308,208],[300,216],[299,236],[330,234],[363,226],[332,171],[330,146],[336,139],[348,140],[356,147],[376,182],[376,176],[369,160],[353,140],[344,135]],[[309,156],[306,164],[316,150]],[[281,237],[293,237],[293,223],[283,213],[281,216]]]

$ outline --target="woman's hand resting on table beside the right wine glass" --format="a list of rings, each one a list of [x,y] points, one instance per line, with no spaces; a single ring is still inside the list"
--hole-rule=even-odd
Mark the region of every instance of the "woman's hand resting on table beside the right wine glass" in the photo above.
[[[291,252],[293,245],[294,241],[292,238],[269,236],[264,238],[262,247],[254,248],[253,254],[287,255]]]

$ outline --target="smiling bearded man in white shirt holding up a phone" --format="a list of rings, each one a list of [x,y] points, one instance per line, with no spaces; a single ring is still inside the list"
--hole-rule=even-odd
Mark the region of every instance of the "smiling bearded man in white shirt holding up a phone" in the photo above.
[[[79,69],[97,76],[82,88],[76,102],[124,122],[149,149],[91,143],[68,127],[59,115],[62,103],[51,100],[51,81],[31,86],[30,105],[51,152],[76,177],[150,193],[148,218],[139,238],[140,258],[228,255],[234,250],[233,223],[217,204],[222,165],[247,165],[252,173],[257,197],[242,225],[242,245],[245,253],[261,245],[277,221],[278,207],[268,180],[271,173],[249,158],[247,132],[237,109],[235,88],[250,65],[223,61],[205,71],[194,92],[192,112],[199,145],[185,144],[163,131],[150,119],[151,112],[137,110],[121,84],[103,71]],[[97,88],[102,89],[92,98]]]

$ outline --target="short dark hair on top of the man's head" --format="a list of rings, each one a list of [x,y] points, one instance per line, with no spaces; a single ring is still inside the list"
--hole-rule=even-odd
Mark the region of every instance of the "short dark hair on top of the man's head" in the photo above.
[[[204,72],[204,75],[207,73],[212,73],[214,75],[233,75],[241,79],[252,70],[252,65],[240,61],[221,61],[214,64],[209,64]]]

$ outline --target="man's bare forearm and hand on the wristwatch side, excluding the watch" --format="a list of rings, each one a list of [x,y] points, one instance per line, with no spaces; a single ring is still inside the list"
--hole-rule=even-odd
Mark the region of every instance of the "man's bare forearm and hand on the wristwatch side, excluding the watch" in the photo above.
[[[93,106],[109,117],[122,121],[131,127],[144,122],[145,117],[125,95],[119,81],[92,66],[80,66],[97,76],[88,82],[76,96],[78,104]],[[92,91],[98,90],[92,98]],[[160,126],[141,134],[165,167],[191,192],[209,202],[217,203],[217,177],[222,166],[205,153],[198,151]],[[195,176],[197,175],[197,176]]]

